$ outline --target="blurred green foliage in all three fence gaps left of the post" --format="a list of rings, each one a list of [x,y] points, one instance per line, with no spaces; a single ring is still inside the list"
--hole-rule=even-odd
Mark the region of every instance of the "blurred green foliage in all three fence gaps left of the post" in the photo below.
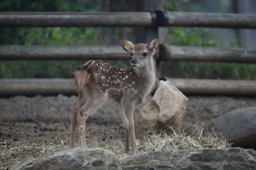
[[[97,1],[2,0],[0,11],[95,11]],[[0,28],[1,45],[99,45],[95,28]],[[68,78],[85,61],[1,61],[0,78]]]

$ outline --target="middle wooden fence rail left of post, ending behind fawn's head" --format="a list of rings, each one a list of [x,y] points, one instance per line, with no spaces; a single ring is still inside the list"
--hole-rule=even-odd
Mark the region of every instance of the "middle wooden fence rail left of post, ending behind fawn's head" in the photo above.
[[[0,60],[88,60],[131,59],[121,45],[114,46],[43,46],[0,45]]]

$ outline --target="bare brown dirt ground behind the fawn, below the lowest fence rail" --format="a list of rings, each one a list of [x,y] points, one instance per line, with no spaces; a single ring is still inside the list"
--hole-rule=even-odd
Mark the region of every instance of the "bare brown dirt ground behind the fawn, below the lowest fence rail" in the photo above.
[[[194,133],[194,135],[197,135],[200,133],[203,122],[206,125],[211,119],[217,118],[230,110],[255,107],[256,105],[256,98],[252,97],[187,97],[188,103],[183,120],[183,129],[188,135],[198,129]],[[0,99],[0,152],[12,147],[21,147],[23,143],[26,143],[26,145],[32,143],[49,145],[50,143],[61,144],[63,141],[65,145],[68,144],[69,116],[76,99],[75,96],[36,96],[33,98],[17,96]],[[23,105],[23,103],[25,104]],[[40,103],[44,103],[43,108]],[[37,109],[41,107],[42,113],[35,114],[36,109],[34,107]],[[86,121],[86,144],[88,147],[116,147],[120,146],[120,143],[124,145],[125,130],[122,122],[116,118],[118,114],[111,114],[111,112],[116,112],[115,109],[111,111],[111,109],[103,106],[94,117]],[[137,111],[135,110],[135,116],[139,110],[139,108],[137,108]],[[47,115],[48,112],[51,114]],[[61,112],[62,116],[55,114],[55,112]],[[26,117],[22,117],[22,114],[25,113],[27,113]],[[16,115],[19,114],[21,119],[17,120]],[[37,117],[30,119],[29,116],[35,115]],[[62,119],[52,119],[49,116]],[[53,121],[49,121],[49,119]],[[76,142],[78,143],[78,135],[76,135]]]

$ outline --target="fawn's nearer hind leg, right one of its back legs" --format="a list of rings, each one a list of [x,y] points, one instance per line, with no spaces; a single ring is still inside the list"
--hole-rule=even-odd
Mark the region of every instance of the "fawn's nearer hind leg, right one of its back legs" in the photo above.
[[[76,113],[76,121],[78,127],[78,134],[80,139],[80,144],[82,148],[86,148],[85,141],[85,122],[86,119],[96,110],[98,109],[102,103],[104,103],[107,99],[107,96],[101,96],[98,98],[88,98],[85,105],[83,105],[78,112]]]

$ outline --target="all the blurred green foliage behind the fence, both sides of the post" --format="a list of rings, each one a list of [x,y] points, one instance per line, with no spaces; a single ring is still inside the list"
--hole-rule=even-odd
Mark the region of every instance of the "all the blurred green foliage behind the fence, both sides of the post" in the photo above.
[[[218,0],[221,6],[228,6]],[[165,0],[166,11],[190,10],[191,3],[198,12],[204,12],[198,0]],[[182,8],[181,8],[182,7]],[[1,0],[0,11],[97,11],[98,1],[91,0]],[[216,9],[214,9],[216,10]],[[239,48],[230,38],[222,43],[209,28],[165,28],[165,43],[199,47]],[[125,33],[124,33],[125,31]],[[115,35],[122,37],[131,28],[117,28]],[[109,36],[109,35],[107,35]],[[95,28],[0,28],[1,45],[101,45]],[[72,71],[86,61],[0,61],[0,78],[71,78]],[[106,61],[116,66],[129,66],[129,62]],[[165,63],[165,75],[186,78],[255,79],[255,64],[170,61]]]

